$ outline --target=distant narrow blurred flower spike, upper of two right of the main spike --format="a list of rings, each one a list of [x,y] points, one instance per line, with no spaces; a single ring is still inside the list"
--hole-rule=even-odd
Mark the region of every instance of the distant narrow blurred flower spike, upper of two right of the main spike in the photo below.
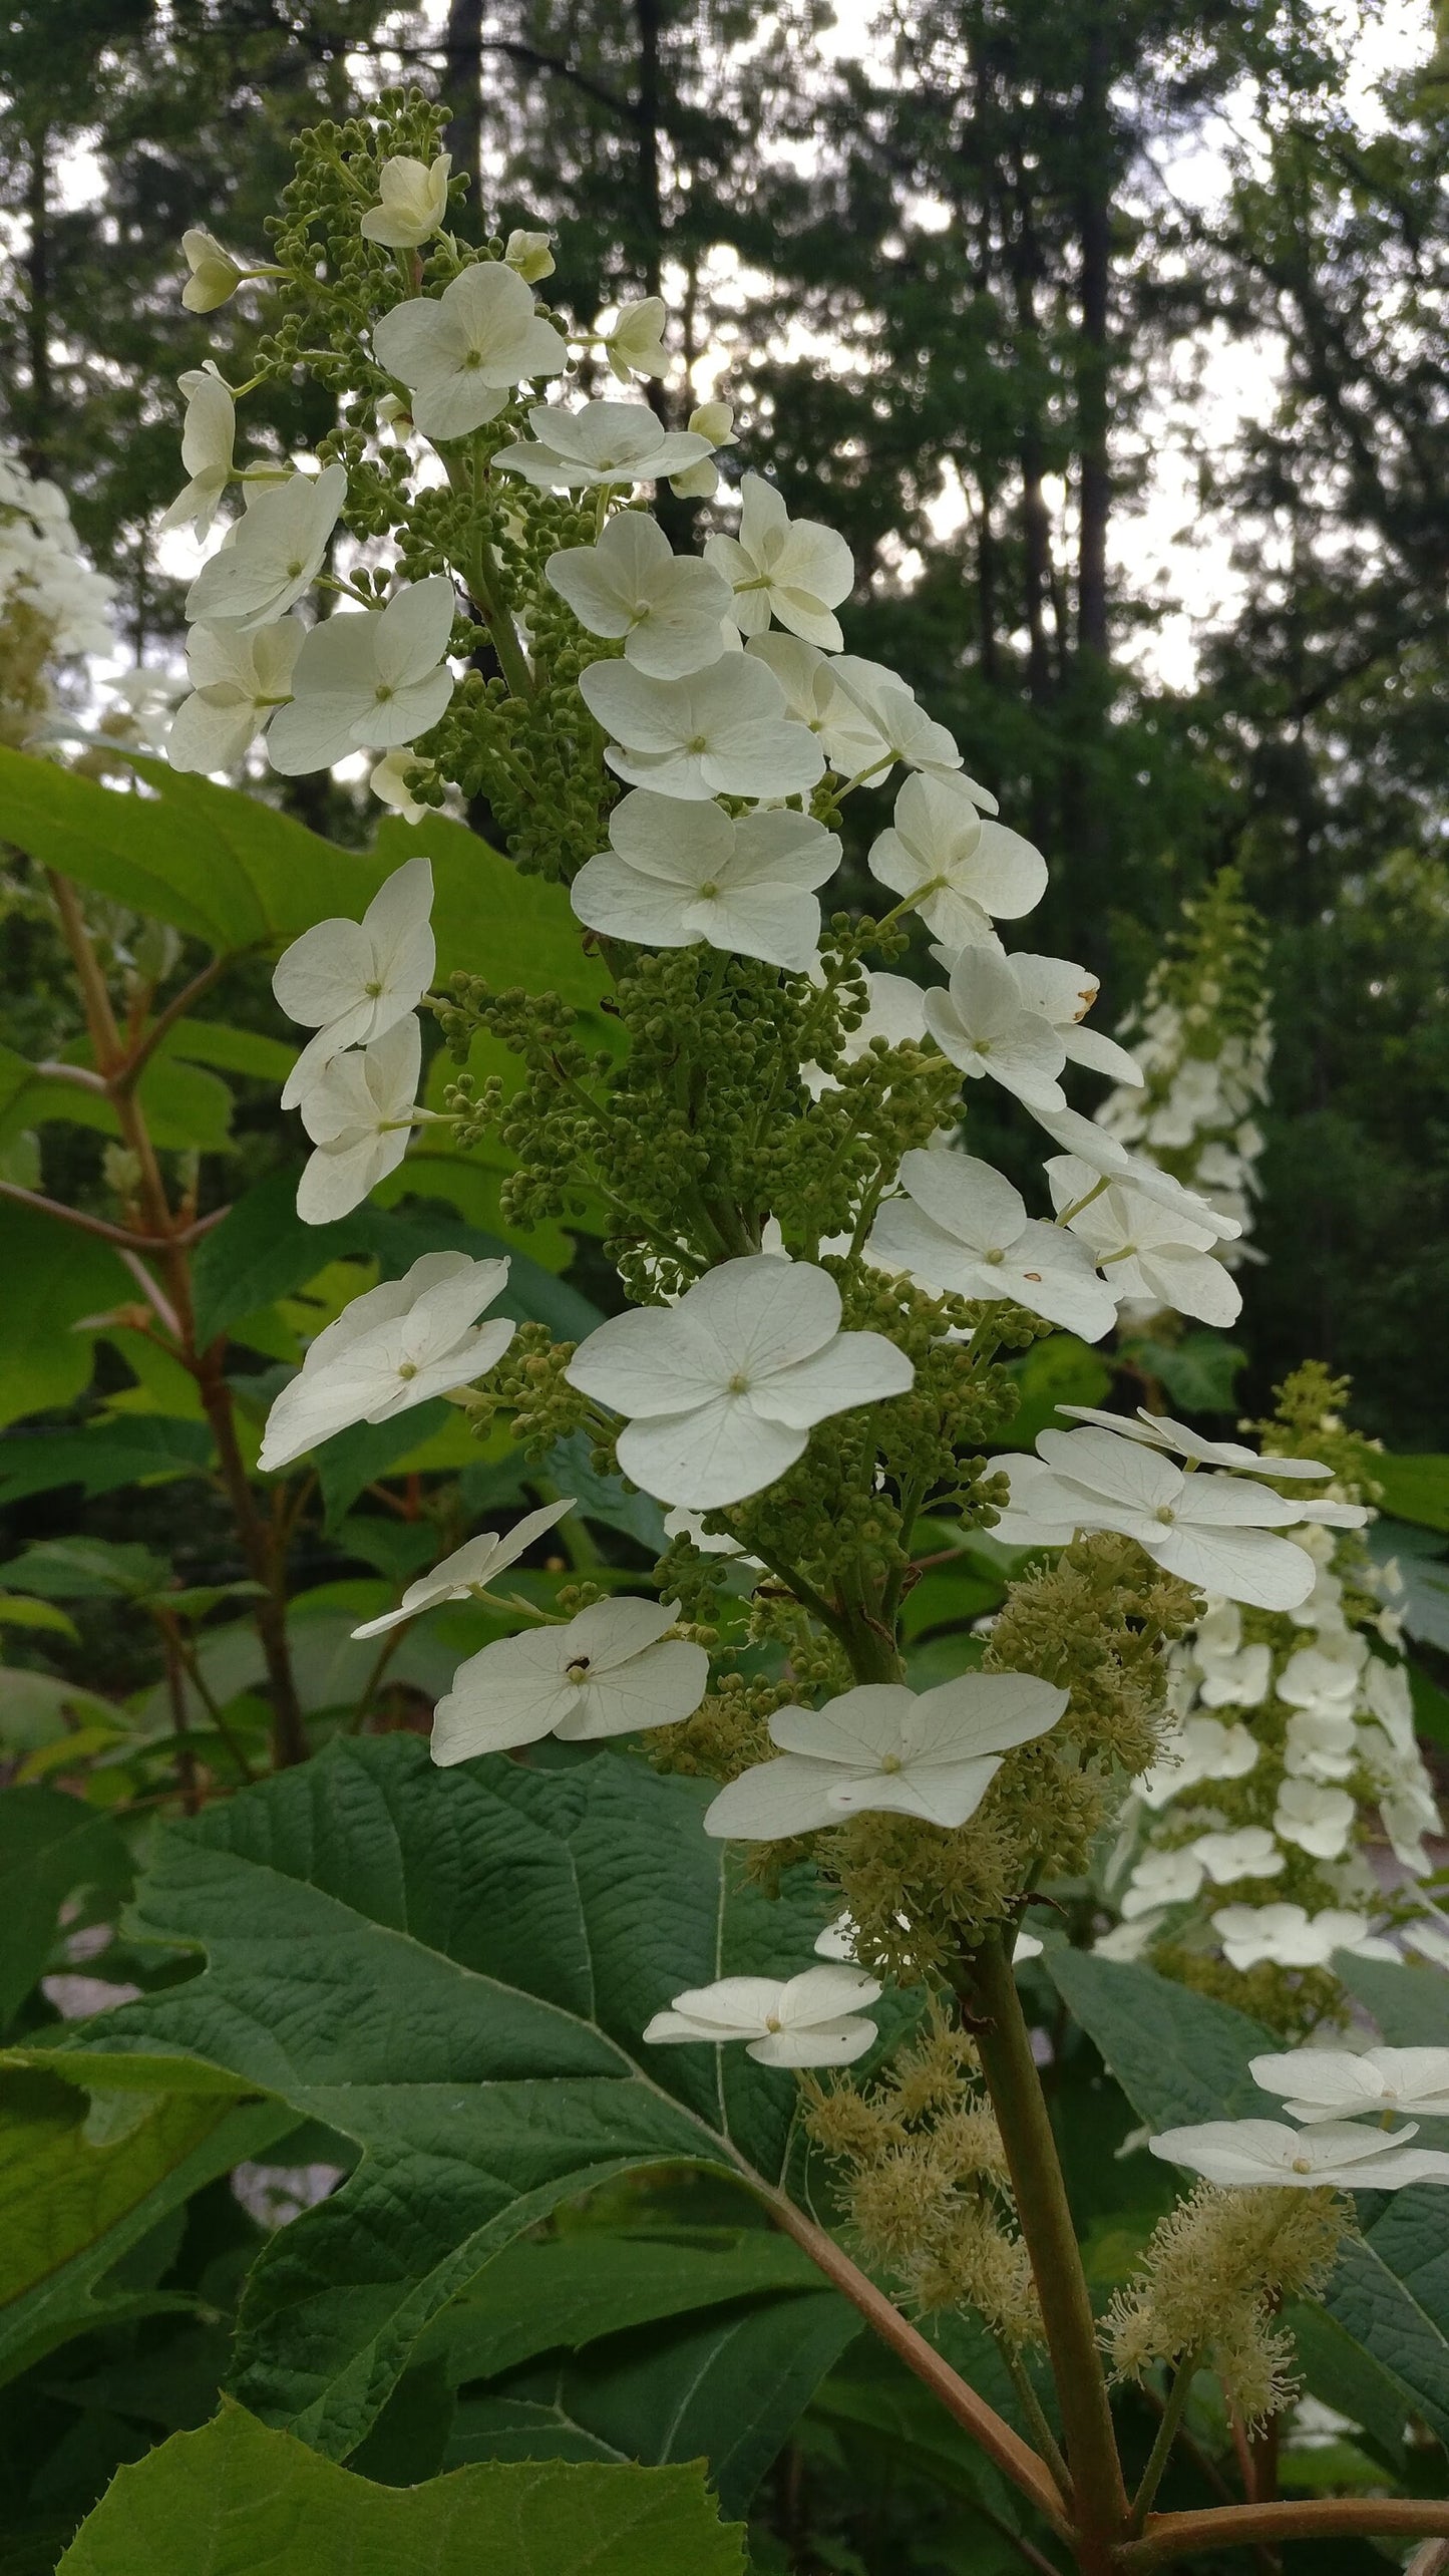
[[[1248,1236],[1264,1151],[1256,1113],[1269,1097],[1274,1061],[1264,948],[1264,927],[1243,902],[1235,871],[1225,868],[1199,902],[1184,904],[1184,930],[1120,1028],[1138,1084],[1109,1092],[1096,1110],[1112,1136],[1235,1221],[1238,1236],[1223,1255],[1228,1267],[1261,1260]],[[1138,1319],[1176,1303],[1171,1285],[1143,1265]]]

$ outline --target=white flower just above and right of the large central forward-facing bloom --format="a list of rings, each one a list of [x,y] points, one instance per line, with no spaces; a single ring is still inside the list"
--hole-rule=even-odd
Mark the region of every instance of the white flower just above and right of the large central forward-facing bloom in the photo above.
[[[921,1288],[1011,1298],[1099,1342],[1117,1319],[1091,1257],[1060,1226],[1027,1216],[1019,1190],[970,1154],[914,1149],[901,1157],[903,1198],[888,1198],[865,1247],[883,1270],[909,1270]]]

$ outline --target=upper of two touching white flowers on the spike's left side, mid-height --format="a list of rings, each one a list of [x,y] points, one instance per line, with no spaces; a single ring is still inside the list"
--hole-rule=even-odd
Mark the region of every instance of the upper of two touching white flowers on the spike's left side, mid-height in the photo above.
[[[332,1056],[368,1046],[417,1010],[438,956],[430,909],[432,866],[409,858],[383,878],[360,922],[314,922],[283,948],[273,992],[288,1020],[317,1030],[288,1074],[283,1110],[296,1108]]]

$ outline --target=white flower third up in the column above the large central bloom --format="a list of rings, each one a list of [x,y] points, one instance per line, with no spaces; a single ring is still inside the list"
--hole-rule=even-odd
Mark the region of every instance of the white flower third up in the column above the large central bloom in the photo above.
[[[697,554],[674,554],[643,510],[610,518],[597,546],[564,546],[543,567],[592,636],[623,636],[623,657],[651,680],[682,680],[721,659],[728,582]]]

